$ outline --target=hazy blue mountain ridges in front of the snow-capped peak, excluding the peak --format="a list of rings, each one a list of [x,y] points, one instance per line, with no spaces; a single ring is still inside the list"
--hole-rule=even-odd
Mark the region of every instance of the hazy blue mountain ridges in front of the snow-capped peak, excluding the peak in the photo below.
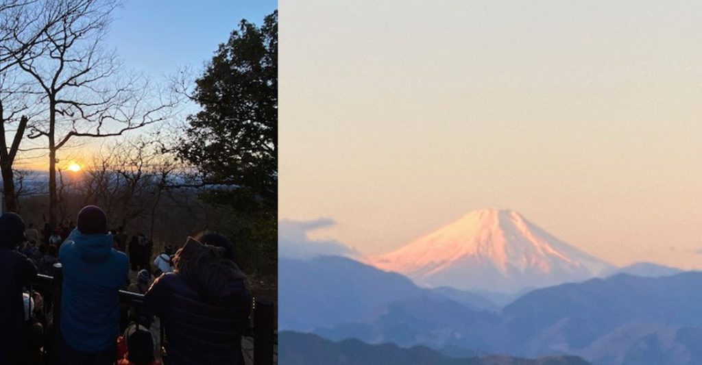
[[[702,364],[701,289],[702,273],[653,263],[500,294],[420,287],[348,257],[281,258],[279,329],[321,336],[329,343],[295,338],[337,355],[345,342],[335,341],[356,339],[400,350],[423,345],[449,358],[574,355],[601,365]],[[285,337],[281,348],[284,354]],[[380,356],[383,348],[389,349],[369,351]]]

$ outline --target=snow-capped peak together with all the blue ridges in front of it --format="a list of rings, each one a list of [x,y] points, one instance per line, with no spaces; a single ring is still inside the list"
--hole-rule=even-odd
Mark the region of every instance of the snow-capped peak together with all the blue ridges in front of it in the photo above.
[[[280,259],[279,329],[342,341],[296,337],[339,359],[348,346],[375,356],[359,361],[426,353],[448,363],[506,354],[702,364],[700,287],[702,273],[616,268],[517,212],[481,210],[389,254]],[[399,347],[372,346],[383,343]]]

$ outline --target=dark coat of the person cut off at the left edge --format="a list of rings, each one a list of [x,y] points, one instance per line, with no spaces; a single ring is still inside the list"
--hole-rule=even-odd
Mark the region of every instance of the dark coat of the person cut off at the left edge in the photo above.
[[[0,247],[0,364],[17,345],[24,319],[22,287],[37,276],[37,268],[27,256]]]

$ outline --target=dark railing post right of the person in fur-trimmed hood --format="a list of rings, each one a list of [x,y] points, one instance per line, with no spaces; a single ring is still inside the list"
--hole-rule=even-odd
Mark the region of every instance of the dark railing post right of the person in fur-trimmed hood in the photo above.
[[[270,298],[256,298],[253,310],[253,364],[273,364],[274,311]]]

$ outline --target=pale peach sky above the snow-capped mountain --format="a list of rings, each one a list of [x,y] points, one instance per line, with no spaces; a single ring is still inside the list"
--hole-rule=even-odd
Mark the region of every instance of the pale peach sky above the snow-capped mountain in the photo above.
[[[702,4],[280,5],[280,219],[380,254],[513,209],[618,266],[702,268]]]

